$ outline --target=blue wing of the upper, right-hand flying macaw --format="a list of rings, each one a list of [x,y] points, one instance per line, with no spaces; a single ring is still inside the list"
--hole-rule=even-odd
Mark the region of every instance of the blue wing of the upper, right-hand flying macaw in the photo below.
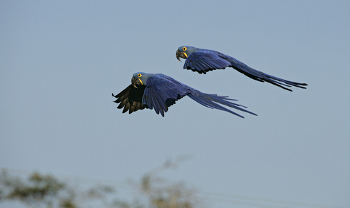
[[[230,66],[227,55],[212,50],[202,50],[191,53],[185,60],[183,69],[190,69],[198,73],[206,73],[215,69],[225,69]]]

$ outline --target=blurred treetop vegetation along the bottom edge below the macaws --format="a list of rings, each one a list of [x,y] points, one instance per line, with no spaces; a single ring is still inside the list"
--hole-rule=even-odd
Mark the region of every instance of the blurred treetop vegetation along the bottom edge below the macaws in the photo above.
[[[182,183],[165,182],[158,176],[160,171],[172,166],[165,162],[162,166],[144,174],[135,184],[138,194],[130,200],[117,198],[112,186],[77,186],[63,182],[53,175],[35,172],[27,178],[0,173],[0,202],[17,201],[25,207],[78,208],[192,208],[197,204],[194,191]]]

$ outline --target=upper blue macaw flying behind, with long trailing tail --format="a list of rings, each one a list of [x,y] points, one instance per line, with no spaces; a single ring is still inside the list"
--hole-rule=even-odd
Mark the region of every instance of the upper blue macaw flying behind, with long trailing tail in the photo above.
[[[190,69],[192,71],[197,71],[198,73],[206,73],[215,69],[232,67],[233,69],[240,71],[240,73],[244,73],[244,75],[249,76],[253,80],[271,83],[272,85],[282,87],[283,89],[287,89],[289,91],[292,90],[286,87],[294,86],[306,89],[306,87],[302,86],[307,85],[306,83],[295,83],[263,73],[262,71],[248,67],[247,64],[244,64],[243,62],[240,62],[239,60],[218,51],[198,49],[193,46],[180,46],[176,51],[176,58],[179,61],[181,61],[180,58],[185,59],[183,69]]]

